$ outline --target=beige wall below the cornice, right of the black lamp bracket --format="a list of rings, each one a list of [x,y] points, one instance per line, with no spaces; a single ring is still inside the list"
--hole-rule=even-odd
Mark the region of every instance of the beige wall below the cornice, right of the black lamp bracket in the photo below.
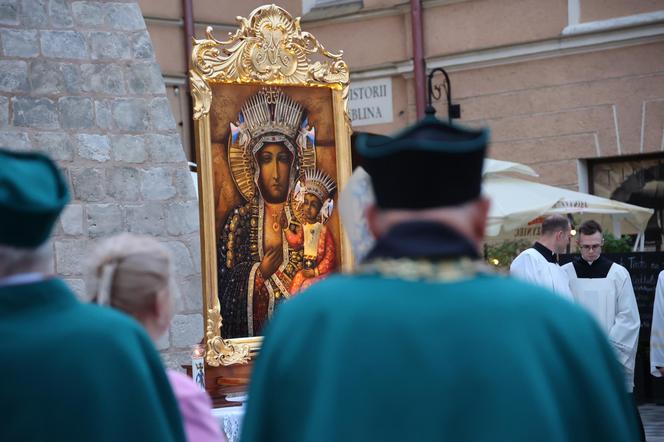
[[[576,187],[578,158],[662,148],[664,42],[463,71],[452,81],[463,121],[491,128],[490,155],[531,164],[550,184]]]

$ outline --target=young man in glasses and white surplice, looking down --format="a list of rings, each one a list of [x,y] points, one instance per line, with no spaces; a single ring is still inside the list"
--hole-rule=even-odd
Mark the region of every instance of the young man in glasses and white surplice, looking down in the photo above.
[[[623,368],[626,389],[632,392],[641,327],[632,280],[627,269],[601,255],[604,238],[596,221],[589,220],[579,226],[577,244],[581,256],[563,266],[572,296],[608,336]],[[636,407],[635,410],[638,416]]]

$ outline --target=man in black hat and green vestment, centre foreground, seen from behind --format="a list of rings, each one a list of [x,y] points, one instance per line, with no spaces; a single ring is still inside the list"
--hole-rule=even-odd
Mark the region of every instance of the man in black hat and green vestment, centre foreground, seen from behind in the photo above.
[[[479,264],[487,143],[433,116],[358,137],[376,245],[276,313],[244,442],[638,440],[593,319]]]

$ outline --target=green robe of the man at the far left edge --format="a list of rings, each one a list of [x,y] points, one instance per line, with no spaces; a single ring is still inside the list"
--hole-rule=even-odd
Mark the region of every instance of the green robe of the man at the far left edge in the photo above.
[[[142,327],[50,279],[0,287],[1,441],[184,441]]]

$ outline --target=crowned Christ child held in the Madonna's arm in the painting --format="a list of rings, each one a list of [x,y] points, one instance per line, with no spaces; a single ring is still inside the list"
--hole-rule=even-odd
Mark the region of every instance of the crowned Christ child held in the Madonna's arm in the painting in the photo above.
[[[302,270],[293,277],[291,296],[324,278],[336,267],[336,247],[332,232],[325,223],[332,215],[335,183],[319,169],[307,169],[304,185],[295,187],[295,199],[302,214],[300,226],[286,229],[286,240],[294,248],[304,249]]]

